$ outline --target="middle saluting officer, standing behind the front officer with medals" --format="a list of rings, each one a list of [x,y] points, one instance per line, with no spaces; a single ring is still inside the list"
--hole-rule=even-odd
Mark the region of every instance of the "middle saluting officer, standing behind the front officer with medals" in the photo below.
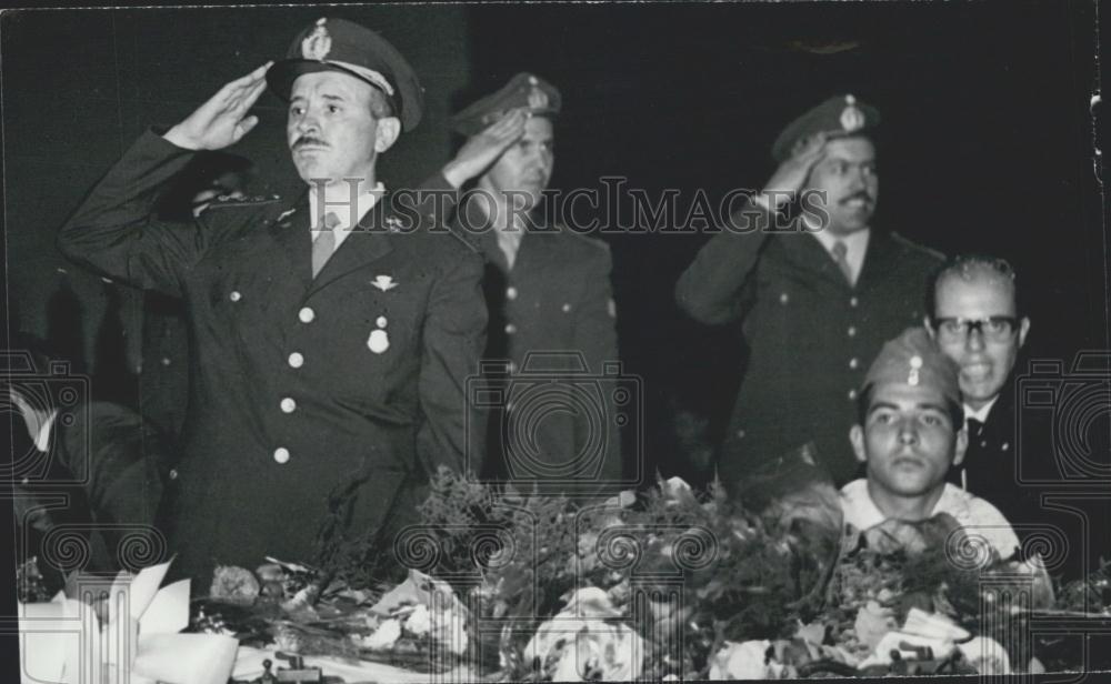
[[[484,475],[528,491],[594,495],[622,475],[611,392],[581,394],[589,382],[529,391],[550,373],[600,375],[607,362],[618,361],[608,247],[550,224],[538,211],[556,161],[561,104],[554,86],[519,73],[453,118],[468,144],[494,122],[520,119],[524,125],[468,193],[454,228],[487,262],[484,358],[509,366],[504,401],[487,406]]]

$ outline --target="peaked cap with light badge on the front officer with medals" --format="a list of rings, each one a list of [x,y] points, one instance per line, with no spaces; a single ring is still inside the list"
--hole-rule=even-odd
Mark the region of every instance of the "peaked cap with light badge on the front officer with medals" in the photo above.
[[[389,41],[366,27],[321,17],[297,34],[286,59],[270,67],[267,83],[288,102],[297,77],[317,71],[340,71],[380,90],[406,131],[420,122],[424,89],[417,74]]]

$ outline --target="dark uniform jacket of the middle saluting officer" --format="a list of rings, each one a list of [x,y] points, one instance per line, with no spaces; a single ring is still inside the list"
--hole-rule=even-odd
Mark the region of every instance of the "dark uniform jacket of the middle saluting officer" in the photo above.
[[[517,423],[507,422],[499,408],[486,406],[491,410],[486,419],[484,475],[519,481],[527,487],[539,481],[543,483],[541,491],[567,493],[598,491],[570,481],[619,481],[622,464],[614,383],[588,380],[584,384],[563,385],[569,392],[590,392],[589,405],[605,411],[601,426],[592,423],[589,411],[582,409],[587,404],[561,395],[559,390],[531,392],[539,386],[538,374],[554,372],[589,379],[602,376],[607,370],[603,364],[609,362],[612,370],[618,361],[609,247],[562,227],[533,224],[522,235],[510,269],[479,204],[467,202],[460,211],[466,214],[457,218],[454,231],[486,258],[483,290],[490,328],[483,358],[494,362],[486,368],[503,369],[504,364],[497,362],[510,362],[508,378],[501,374],[503,384],[510,386],[506,402],[519,412],[518,416],[533,416],[522,420],[520,428],[509,429]],[[575,366],[575,355],[585,368]],[[492,375],[488,373],[487,378]],[[544,411],[546,404],[554,411]],[[522,443],[529,439],[536,440],[534,446]]]

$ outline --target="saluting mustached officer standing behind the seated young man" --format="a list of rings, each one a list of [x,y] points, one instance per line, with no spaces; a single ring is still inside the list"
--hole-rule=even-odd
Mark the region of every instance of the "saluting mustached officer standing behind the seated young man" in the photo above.
[[[872,223],[879,112],[853,95],[791,122],[764,190],[699,252],[679,305],[703,323],[743,321],[748,364],[722,444],[729,487],[762,462],[813,442],[840,486],[857,471],[844,435],[857,388],[888,339],[921,320],[939,254]],[[797,195],[789,231],[771,213]]]

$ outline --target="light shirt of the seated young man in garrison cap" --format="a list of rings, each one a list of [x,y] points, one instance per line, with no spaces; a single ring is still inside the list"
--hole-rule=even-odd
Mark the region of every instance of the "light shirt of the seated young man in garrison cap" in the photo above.
[[[887,520],[868,493],[868,480],[853,480],[841,487],[841,511],[845,524],[858,530],[869,530]],[[1001,559],[1008,559],[1019,547],[1011,523],[1007,522],[999,509],[983,499],[969,494],[959,486],[945,483],[941,497],[933,506],[931,516],[948,513],[953,516],[969,536],[981,536],[999,552]]]

